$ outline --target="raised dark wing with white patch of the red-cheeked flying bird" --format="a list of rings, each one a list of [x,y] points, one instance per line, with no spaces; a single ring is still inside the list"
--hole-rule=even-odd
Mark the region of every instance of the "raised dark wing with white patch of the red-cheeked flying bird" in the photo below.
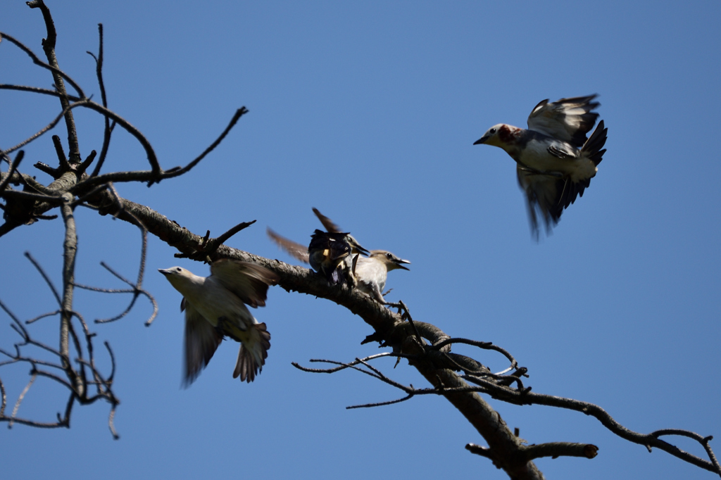
[[[581,148],[586,141],[586,133],[593,128],[598,118],[598,113],[591,111],[601,105],[593,102],[596,97],[562,98],[551,103],[548,99],[543,100],[528,115],[528,130],[544,133]]]

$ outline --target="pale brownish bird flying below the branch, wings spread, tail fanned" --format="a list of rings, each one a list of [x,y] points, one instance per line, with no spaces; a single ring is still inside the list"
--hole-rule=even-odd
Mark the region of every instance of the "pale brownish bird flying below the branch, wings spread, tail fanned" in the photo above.
[[[233,378],[248,383],[262,371],[270,333],[247,308],[265,306],[269,285],[279,277],[265,267],[234,259],[211,264],[211,275],[199,277],[182,267],[158,269],[182,293],[185,311],[183,386],[190,386],[211,361],[224,337],[240,342]]]

